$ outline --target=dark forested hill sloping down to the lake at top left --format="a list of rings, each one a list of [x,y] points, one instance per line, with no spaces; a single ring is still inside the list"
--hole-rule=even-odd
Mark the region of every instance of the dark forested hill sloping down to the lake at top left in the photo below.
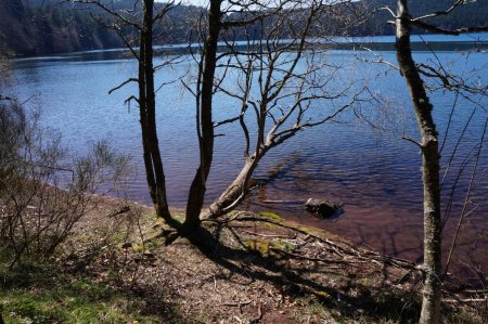
[[[121,44],[85,12],[28,1],[0,0],[0,48],[15,54],[70,52]]]

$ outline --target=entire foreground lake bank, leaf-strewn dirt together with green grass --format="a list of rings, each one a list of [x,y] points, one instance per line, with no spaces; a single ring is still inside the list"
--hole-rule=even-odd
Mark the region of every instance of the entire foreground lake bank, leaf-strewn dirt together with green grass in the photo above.
[[[5,321],[35,315],[59,323],[418,320],[422,276],[409,261],[270,212],[234,211],[204,222],[202,235],[211,234],[203,236],[210,248],[184,237],[166,245],[165,235],[151,235],[164,229],[153,208],[99,197],[55,263],[1,274]],[[114,213],[125,206],[129,212]],[[460,301],[478,295],[462,294],[451,282],[445,288],[446,319],[483,323],[479,303]],[[79,314],[75,322],[74,313]]]

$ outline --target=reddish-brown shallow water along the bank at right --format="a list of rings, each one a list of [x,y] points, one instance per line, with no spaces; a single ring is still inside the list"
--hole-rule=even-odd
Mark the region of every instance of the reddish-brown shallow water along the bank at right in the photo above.
[[[368,185],[364,185],[364,190],[368,190]],[[336,195],[320,197],[339,200]],[[296,199],[296,195],[281,195],[280,198]],[[319,219],[305,211],[305,206],[301,204],[270,203],[267,199],[260,200],[258,197],[254,197],[245,206],[249,210],[270,211],[304,225],[324,229],[354,244],[378,252],[422,262],[422,203],[411,208],[399,208],[382,203],[375,203],[372,206],[355,204],[354,199],[348,199],[347,196],[343,198],[345,199],[341,202],[346,202],[344,212],[338,218],[332,219]],[[377,202],[381,202],[381,197]],[[451,248],[455,225],[454,221],[448,222],[444,230],[444,263]],[[449,265],[449,272],[476,286],[483,285],[488,269],[488,235],[486,231],[479,230],[484,226],[486,223],[483,219],[471,218],[464,221]]]

